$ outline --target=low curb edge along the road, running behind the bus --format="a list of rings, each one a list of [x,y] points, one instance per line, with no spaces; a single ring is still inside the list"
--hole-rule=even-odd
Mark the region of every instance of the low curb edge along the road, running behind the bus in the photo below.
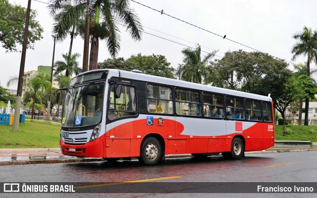
[[[306,148],[306,149],[290,149],[290,150],[262,150],[262,151],[246,151],[245,154],[263,154],[263,153],[277,153],[277,152],[300,152],[300,151],[316,151],[317,148]],[[214,155],[221,156],[221,154]],[[191,154],[170,154],[166,155],[165,158],[182,158],[182,157],[193,157]],[[0,166],[5,165],[25,165],[25,164],[53,164],[53,163],[78,163],[78,162],[98,162],[106,161],[103,158],[75,158],[75,159],[40,159],[40,160],[20,160],[20,161],[5,161],[0,162]]]

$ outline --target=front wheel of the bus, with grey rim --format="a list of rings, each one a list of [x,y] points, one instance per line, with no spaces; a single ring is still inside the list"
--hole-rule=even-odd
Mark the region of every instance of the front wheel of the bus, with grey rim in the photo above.
[[[141,163],[151,166],[156,165],[162,158],[162,150],[159,140],[155,137],[145,139],[141,144],[140,157]]]

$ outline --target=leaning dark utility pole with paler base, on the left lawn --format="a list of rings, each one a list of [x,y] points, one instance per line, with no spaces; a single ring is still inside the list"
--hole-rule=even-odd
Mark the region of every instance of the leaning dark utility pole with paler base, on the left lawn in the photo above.
[[[19,72],[19,81],[18,89],[15,97],[15,110],[14,110],[14,121],[13,121],[13,131],[19,130],[20,122],[20,108],[21,108],[21,98],[22,98],[22,87],[23,87],[23,77],[24,77],[24,65],[25,65],[25,54],[26,47],[28,44],[28,32],[29,32],[29,21],[30,21],[30,11],[31,11],[31,0],[28,1],[28,7],[26,9],[26,20],[25,20],[25,29],[24,29],[24,38],[23,38],[23,47],[21,55],[21,64]]]

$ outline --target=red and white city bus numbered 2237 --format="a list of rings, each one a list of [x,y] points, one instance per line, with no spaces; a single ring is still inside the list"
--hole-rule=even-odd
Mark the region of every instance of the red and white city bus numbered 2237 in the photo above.
[[[274,146],[270,97],[115,69],[82,73],[65,90],[64,155],[155,165],[167,154],[238,159]]]

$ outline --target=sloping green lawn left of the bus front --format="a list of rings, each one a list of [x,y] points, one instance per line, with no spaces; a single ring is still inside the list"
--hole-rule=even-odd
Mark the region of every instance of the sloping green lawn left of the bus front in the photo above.
[[[0,125],[0,148],[59,148],[59,134],[60,125],[37,120],[20,123],[17,132]]]

